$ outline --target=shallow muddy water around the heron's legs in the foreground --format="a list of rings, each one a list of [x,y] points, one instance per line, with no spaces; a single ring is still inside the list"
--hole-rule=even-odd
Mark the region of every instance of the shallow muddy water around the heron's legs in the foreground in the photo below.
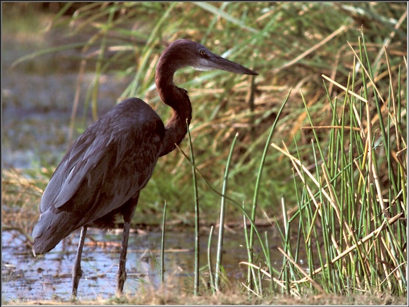
[[[51,252],[34,257],[24,239],[13,231],[2,233],[2,297],[13,300],[67,300],[71,296],[71,268],[74,262],[79,232],[63,240]],[[213,239],[216,244],[217,237]],[[93,244],[94,242],[105,243]],[[207,265],[208,232],[201,235],[200,267]],[[121,231],[104,233],[89,229],[83,250],[81,267],[83,275],[78,287],[82,300],[109,298],[115,294]],[[224,241],[223,267],[231,282],[244,281],[246,267],[245,248],[240,246],[241,233],[228,233]],[[129,238],[126,263],[127,280],[124,292],[135,293],[147,285],[158,287],[161,233],[133,232]],[[191,231],[172,231],[166,234],[165,283],[177,284],[183,289],[193,289],[194,234]],[[215,259],[215,246],[212,259]],[[279,268],[282,257],[271,248],[274,266]],[[213,265],[214,266],[214,265]],[[201,273],[206,280],[207,270]]]

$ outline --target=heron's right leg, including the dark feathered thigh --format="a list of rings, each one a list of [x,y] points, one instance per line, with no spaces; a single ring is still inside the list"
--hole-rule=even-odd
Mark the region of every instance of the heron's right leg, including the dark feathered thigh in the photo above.
[[[121,256],[119,258],[119,266],[118,266],[118,284],[117,284],[117,294],[122,294],[124,290],[124,283],[126,280],[126,252],[128,249],[128,238],[129,238],[129,230],[131,227],[131,220],[133,216],[133,212],[137,207],[139,198],[139,193],[134,198],[128,200],[123,206],[122,214],[124,215],[124,232],[122,234],[122,246],[121,246]]]

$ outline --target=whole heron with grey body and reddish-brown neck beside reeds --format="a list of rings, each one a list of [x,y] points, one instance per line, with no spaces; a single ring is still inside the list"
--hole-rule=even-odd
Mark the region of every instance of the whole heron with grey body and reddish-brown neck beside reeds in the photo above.
[[[187,66],[257,75],[200,43],[187,39],[172,42],[158,60],[155,72],[156,90],[173,109],[166,125],[143,100],[125,99],[72,144],[42,194],[40,217],[32,233],[34,256],[49,252],[81,228],[72,270],[73,297],[77,296],[82,276],[81,255],[87,228],[113,228],[121,215],[124,227],[116,277],[117,294],[123,292],[129,230],[139,193],[152,176],[157,159],[185,138],[192,118],[188,92],[173,83],[174,73]]]

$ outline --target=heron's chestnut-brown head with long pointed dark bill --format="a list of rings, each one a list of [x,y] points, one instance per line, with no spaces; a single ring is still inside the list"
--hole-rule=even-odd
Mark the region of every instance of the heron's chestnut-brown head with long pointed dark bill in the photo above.
[[[172,42],[162,54],[159,62],[166,62],[174,71],[191,66],[197,70],[219,69],[237,74],[257,75],[256,72],[222,58],[210,52],[200,43],[188,39]]]

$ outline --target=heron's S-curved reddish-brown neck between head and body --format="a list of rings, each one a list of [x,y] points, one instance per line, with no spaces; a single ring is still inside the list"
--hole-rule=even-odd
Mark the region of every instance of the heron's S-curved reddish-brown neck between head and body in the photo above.
[[[156,89],[162,101],[172,107],[173,114],[165,125],[165,137],[162,142],[159,156],[164,156],[175,149],[187,134],[186,121],[190,124],[192,118],[192,106],[188,93],[184,89],[173,84],[171,69],[158,66],[156,70]]]

